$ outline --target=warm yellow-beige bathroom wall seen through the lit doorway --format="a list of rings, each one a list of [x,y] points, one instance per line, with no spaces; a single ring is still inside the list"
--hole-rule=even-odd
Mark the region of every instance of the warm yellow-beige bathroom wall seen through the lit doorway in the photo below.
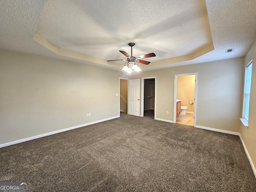
[[[187,106],[186,112],[194,112],[196,75],[185,75],[177,77],[177,99],[181,100],[181,106]]]

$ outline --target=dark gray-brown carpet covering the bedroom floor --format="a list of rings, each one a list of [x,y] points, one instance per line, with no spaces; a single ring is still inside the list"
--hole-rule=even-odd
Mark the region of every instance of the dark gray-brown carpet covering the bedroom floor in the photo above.
[[[124,113],[0,154],[0,182],[31,192],[256,191],[238,136]]]

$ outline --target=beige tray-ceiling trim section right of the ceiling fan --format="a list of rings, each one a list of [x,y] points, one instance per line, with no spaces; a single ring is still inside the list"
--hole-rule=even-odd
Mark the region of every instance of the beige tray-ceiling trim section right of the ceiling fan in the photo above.
[[[178,56],[178,57],[173,57],[173,58],[168,58],[168,59],[163,59],[155,62],[150,63],[150,67],[156,67],[156,66],[161,66],[161,65],[167,65],[167,64],[172,64],[172,63],[178,63],[182,61],[188,61],[188,60],[193,60],[194,58],[197,58],[199,56],[202,56],[210,51],[214,50],[213,42],[208,44],[207,46],[204,46],[203,48],[195,51],[192,54],[188,55],[183,55],[183,56]],[[142,67],[146,68],[146,67]]]

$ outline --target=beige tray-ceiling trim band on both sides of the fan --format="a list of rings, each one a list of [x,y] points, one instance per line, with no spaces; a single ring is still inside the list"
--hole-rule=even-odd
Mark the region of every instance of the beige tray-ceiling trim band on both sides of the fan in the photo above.
[[[67,57],[71,57],[71,58],[76,58],[76,59],[80,59],[80,60],[85,60],[85,61],[98,63],[98,64],[102,64],[102,65],[106,65],[106,66],[120,68],[120,64],[118,64],[118,63],[107,62],[106,60],[103,60],[103,59],[100,59],[100,58],[96,58],[96,57],[88,56],[86,54],[82,54],[82,53],[78,53],[78,52],[74,52],[74,51],[71,51],[71,50],[60,48],[60,47],[56,46],[55,44],[53,44],[52,42],[50,42],[49,40],[47,40],[44,36],[42,36],[38,32],[34,32],[33,40],[38,42],[42,46],[48,48],[49,50],[51,50],[52,52],[54,52],[58,55],[67,56]],[[182,62],[182,61],[193,60],[194,58],[202,56],[203,54],[206,54],[206,53],[208,53],[212,50],[214,50],[214,46],[213,46],[213,43],[210,43],[207,46],[204,46],[203,48],[195,51],[192,54],[151,62],[150,66],[141,65],[141,68],[162,66],[162,65],[178,63],[178,62]]]

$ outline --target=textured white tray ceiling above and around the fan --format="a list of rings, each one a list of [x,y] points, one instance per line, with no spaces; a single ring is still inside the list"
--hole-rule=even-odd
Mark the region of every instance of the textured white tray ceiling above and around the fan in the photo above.
[[[255,0],[1,0],[0,48],[116,70],[106,60],[125,59],[129,42],[134,56],[156,54],[143,70],[235,58],[255,40],[255,10]]]

